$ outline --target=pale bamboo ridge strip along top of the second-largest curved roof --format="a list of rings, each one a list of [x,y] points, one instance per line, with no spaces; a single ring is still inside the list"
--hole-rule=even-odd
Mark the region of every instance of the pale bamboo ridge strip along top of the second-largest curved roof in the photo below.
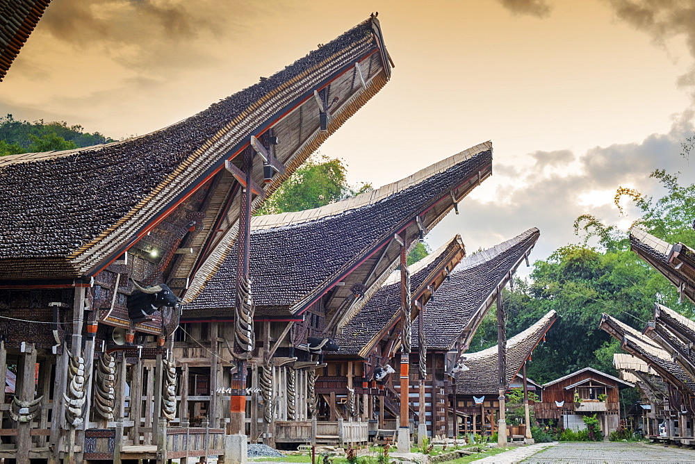
[[[304,222],[311,222],[318,219],[323,219],[325,217],[331,217],[336,215],[341,215],[344,213],[349,213],[352,210],[357,210],[363,206],[373,205],[379,201],[391,197],[393,194],[402,192],[407,188],[414,185],[418,185],[434,176],[440,172],[444,172],[446,169],[461,163],[463,160],[472,158],[481,151],[487,151],[492,149],[492,142],[487,141],[477,144],[473,147],[465,149],[455,155],[445,158],[433,165],[420,169],[415,174],[411,174],[400,181],[395,181],[375,190],[370,190],[370,192],[364,192],[355,197],[350,197],[341,201],[336,201],[335,203],[328,204],[326,206],[320,206],[319,208],[313,208],[310,210],[303,211],[293,211],[290,213],[279,213],[275,215],[263,215],[256,216],[252,220],[252,226],[254,230],[259,229],[275,229],[276,227],[292,226],[295,224],[302,224]]]

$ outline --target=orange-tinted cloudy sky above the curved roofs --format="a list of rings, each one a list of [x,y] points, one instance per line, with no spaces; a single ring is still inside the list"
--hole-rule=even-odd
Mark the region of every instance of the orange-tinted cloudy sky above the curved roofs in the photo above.
[[[379,12],[391,83],[322,147],[383,185],[492,140],[493,176],[432,231],[469,250],[537,226],[536,259],[582,213],[627,227],[619,185],[695,181],[689,0],[54,0],[0,84],[0,114],[113,138],[177,122]],[[695,162],[695,160],[694,160]]]

